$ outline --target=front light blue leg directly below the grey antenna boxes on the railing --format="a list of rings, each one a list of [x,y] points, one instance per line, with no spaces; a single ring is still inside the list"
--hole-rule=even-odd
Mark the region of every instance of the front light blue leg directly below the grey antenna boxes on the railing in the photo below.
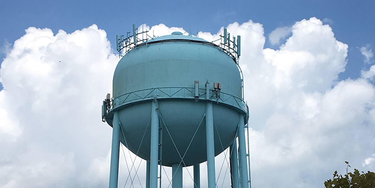
[[[207,179],[208,188],[215,188],[215,145],[213,136],[212,101],[206,103],[206,143],[207,143]]]

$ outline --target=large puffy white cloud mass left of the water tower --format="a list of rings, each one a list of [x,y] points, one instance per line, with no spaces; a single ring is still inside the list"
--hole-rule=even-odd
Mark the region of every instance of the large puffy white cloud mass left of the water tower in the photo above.
[[[96,25],[26,30],[0,69],[0,187],[85,185],[77,175],[110,146],[98,101],[111,92],[117,61]]]

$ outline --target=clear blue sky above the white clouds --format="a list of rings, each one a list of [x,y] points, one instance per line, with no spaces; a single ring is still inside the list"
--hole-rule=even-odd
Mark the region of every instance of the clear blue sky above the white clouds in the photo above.
[[[1,43],[11,45],[28,27],[59,29],[71,33],[92,24],[115,35],[129,31],[132,24],[183,27],[192,34],[215,33],[220,27],[251,19],[263,24],[267,37],[277,27],[291,26],[313,16],[330,24],[337,40],[349,45],[347,70],[340,79],[358,78],[363,64],[359,48],[375,45],[375,2],[364,1],[1,1]],[[268,38],[267,38],[268,39]],[[265,48],[275,48],[266,42]],[[1,54],[3,59],[5,54]]]

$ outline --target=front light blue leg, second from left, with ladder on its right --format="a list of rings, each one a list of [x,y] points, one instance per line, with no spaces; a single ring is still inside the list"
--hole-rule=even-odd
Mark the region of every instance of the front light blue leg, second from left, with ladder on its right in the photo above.
[[[150,143],[150,188],[157,188],[157,165],[159,156],[159,109],[156,100],[151,107],[151,143]]]

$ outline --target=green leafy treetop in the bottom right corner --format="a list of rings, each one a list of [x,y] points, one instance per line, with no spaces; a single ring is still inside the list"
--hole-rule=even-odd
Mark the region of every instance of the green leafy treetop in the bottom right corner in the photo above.
[[[345,163],[348,164],[347,161]],[[349,164],[348,164],[348,167]],[[348,169],[348,168],[347,168]],[[360,173],[357,169],[354,172],[338,175],[337,171],[333,173],[333,180],[329,179],[324,182],[325,188],[375,188],[375,173],[368,171]]]

